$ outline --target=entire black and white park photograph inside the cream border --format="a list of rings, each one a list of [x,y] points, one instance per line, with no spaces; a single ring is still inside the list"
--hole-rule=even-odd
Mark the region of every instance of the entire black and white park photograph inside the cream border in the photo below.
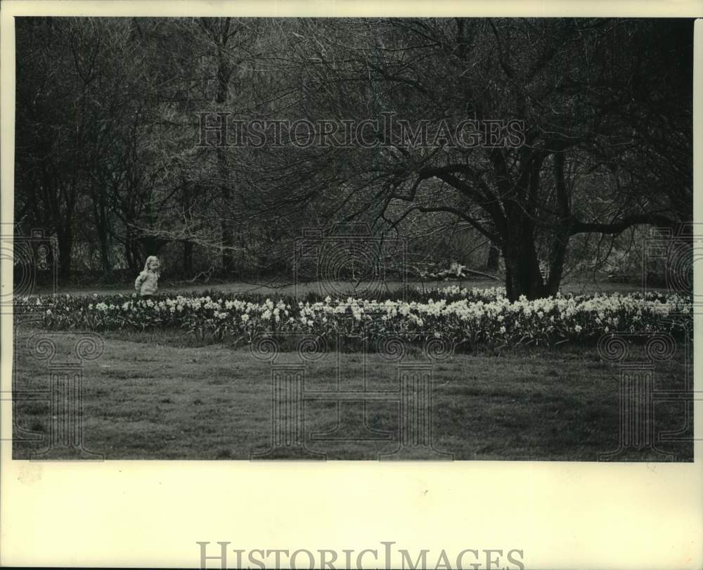
[[[12,455],[692,462],[690,18],[15,18]]]

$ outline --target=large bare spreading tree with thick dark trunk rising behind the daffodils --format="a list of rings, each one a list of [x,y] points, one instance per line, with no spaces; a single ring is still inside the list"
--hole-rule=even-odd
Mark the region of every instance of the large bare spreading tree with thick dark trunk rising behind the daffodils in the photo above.
[[[676,231],[691,218],[691,30],[689,21],[323,20],[304,22],[286,53],[312,119],[393,113],[410,129],[429,124],[428,144],[319,153],[325,172],[333,160],[347,175],[337,187],[347,190],[344,215],[396,226],[413,212],[450,212],[502,252],[509,297],[535,298],[557,291],[572,236]],[[447,130],[466,118],[519,121],[524,139],[451,145]]]

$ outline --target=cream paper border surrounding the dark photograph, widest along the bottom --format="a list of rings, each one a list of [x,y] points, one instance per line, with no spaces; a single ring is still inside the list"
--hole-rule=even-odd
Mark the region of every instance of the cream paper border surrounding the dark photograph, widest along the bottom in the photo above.
[[[703,15],[694,1],[15,1],[0,3],[1,216],[13,216],[14,15]],[[703,86],[703,20],[695,28]],[[703,118],[695,103],[695,219],[702,214]],[[8,226],[4,225],[4,228]],[[12,266],[2,259],[2,292]],[[695,266],[696,290],[703,265]],[[228,548],[524,551],[528,569],[703,567],[701,441],[693,464],[13,461],[12,321],[2,316],[0,564],[198,566],[196,541]],[[697,319],[695,340],[700,348]],[[697,351],[697,357],[700,353]],[[700,368],[700,367],[699,367]],[[700,370],[696,389],[702,389]],[[235,412],[233,412],[235,413]],[[702,436],[703,403],[695,403]],[[214,547],[214,548],[213,548]],[[270,559],[269,559],[270,560]],[[319,560],[319,559],[318,559]],[[370,563],[370,558],[366,558]],[[431,562],[430,562],[431,561]],[[235,563],[232,554],[228,562]],[[467,559],[467,562],[472,562]],[[508,562],[505,554],[501,567]],[[307,565],[307,557],[299,558]],[[399,560],[396,560],[396,565]],[[210,563],[212,564],[212,562]],[[338,563],[337,563],[338,564]],[[382,564],[382,562],[381,562]],[[454,564],[454,562],[452,562]],[[215,567],[215,566],[212,566]],[[339,565],[337,567],[340,567]],[[510,565],[515,568],[514,565]]]

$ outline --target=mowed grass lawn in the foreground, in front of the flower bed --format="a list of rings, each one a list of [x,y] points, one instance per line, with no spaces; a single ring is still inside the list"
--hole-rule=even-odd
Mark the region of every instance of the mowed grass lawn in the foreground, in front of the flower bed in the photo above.
[[[46,390],[49,368],[27,354],[15,331],[15,433],[46,436],[48,401],[23,401],[22,391]],[[56,360],[70,358],[77,332],[46,332]],[[272,387],[269,363],[247,348],[197,342],[181,332],[105,333],[105,351],[83,368],[84,447],[105,459],[248,460],[271,445]],[[281,353],[277,363],[299,362]],[[643,360],[633,346],[632,361]],[[404,362],[420,363],[419,353]],[[685,387],[685,354],[657,364],[656,388]],[[434,363],[434,448],[456,460],[595,461],[619,441],[619,368],[600,359],[595,346],[520,349],[496,354],[456,354]],[[396,363],[379,354],[330,352],[306,369],[306,389],[398,389]],[[34,400],[37,400],[36,396]],[[657,433],[683,429],[685,404],[658,403]],[[366,423],[364,422],[366,415]],[[396,401],[306,401],[304,441],[329,460],[375,460],[399,446]],[[335,432],[335,428],[337,431]],[[332,432],[333,439],[316,439]],[[334,439],[337,437],[337,439]],[[345,439],[340,439],[345,438]],[[29,458],[46,443],[19,440],[15,458]],[[692,461],[692,444],[657,446]],[[285,451],[282,458],[288,457]],[[290,458],[299,455],[291,451]],[[407,458],[407,456],[406,456]],[[411,453],[411,457],[413,455]],[[425,458],[418,449],[417,459]]]

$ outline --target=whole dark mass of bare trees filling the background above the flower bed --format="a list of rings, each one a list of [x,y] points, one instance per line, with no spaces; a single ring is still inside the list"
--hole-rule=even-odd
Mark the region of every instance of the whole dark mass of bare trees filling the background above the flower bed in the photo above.
[[[16,37],[15,222],[56,235],[64,276],[77,242],[105,275],[165,245],[233,274],[304,226],[458,223],[534,298],[574,240],[692,219],[690,20],[20,18]],[[515,120],[524,143],[199,146],[217,112]]]

